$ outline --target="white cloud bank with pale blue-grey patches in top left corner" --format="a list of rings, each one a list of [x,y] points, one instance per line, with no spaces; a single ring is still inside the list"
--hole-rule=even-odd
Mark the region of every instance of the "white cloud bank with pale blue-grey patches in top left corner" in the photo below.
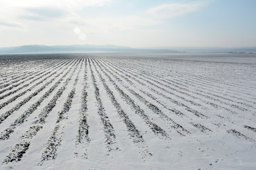
[[[87,6],[103,6],[112,0],[0,0],[0,28],[25,26],[26,21],[58,21]],[[14,24],[15,23],[15,24]],[[4,27],[2,27],[4,26]]]

